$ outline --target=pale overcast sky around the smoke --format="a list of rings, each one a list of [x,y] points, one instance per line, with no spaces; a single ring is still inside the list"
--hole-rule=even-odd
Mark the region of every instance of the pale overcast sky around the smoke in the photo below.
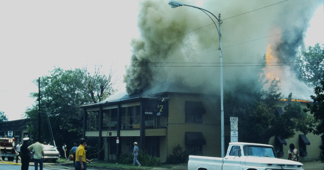
[[[132,55],[131,39],[140,35],[137,16],[141,1],[120,2],[0,2],[0,111],[9,121],[24,118],[26,108],[36,100],[29,94],[38,91],[32,81],[48,75],[54,67],[88,66],[91,70],[102,65],[108,73],[112,66],[120,77],[115,88],[125,90],[122,76]],[[188,0],[186,4],[203,6],[204,1]],[[244,11],[251,10],[254,8]],[[324,43],[323,4],[314,11],[309,25],[305,45]]]

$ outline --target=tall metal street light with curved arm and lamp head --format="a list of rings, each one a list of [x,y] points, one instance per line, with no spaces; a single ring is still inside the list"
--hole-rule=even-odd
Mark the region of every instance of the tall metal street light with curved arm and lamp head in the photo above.
[[[171,8],[176,8],[178,6],[191,6],[191,5],[185,5],[183,4],[182,2],[178,2],[178,1],[169,1],[168,3],[170,5]],[[218,14],[218,18],[211,12],[203,9],[203,8],[200,8],[200,7],[197,7],[197,6],[191,6],[191,7],[194,7],[194,8],[198,8],[202,11],[206,11],[210,14],[212,14],[218,21],[218,24],[219,24],[219,31],[218,31],[218,36],[219,36],[219,58],[220,58],[220,74],[221,74],[221,130],[222,130],[222,158],[225,157],[225,147],[224,147],[224,104],[223,104],[223,57],[222,57],[222,34],[221,34],[221,25],[222,25],[222,20],[221,20],[221,14],[219,13]],[[206,13],[207,14],[207,13]],[[208,14],[207,14],[208,15]],[[209,16],[209,15],[208,15]],[[212,18],[211,18],[212,19]],[[213,20],[213,19],[212,19]],[[214,20],[213,20],[214,22]],[[214,22],[215,24],[215,22]],[[215,24],[216,26],[216,24]],[[217,27],[216,27],[217,28]]]

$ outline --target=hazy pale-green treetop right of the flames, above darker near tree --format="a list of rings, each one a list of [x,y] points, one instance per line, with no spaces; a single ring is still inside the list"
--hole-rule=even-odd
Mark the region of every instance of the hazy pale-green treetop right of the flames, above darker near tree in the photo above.
[[[298,77],[307,84],[317,87],[324,80],[324,44],[303,47],[296,57]]]

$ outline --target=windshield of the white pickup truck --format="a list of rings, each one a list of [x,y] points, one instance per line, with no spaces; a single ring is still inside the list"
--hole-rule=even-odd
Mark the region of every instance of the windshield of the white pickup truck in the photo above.
[[[274,158],[272,148],[262,146],[243,146],[243,151],[245,156],[261,156]]]

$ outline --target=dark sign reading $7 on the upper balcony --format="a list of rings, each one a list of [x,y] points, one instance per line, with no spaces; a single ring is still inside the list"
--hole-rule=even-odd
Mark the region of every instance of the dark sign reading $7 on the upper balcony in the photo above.
[[[143,115],[149,116],[168,116],[169,103],[161,101],[144,101]]]

